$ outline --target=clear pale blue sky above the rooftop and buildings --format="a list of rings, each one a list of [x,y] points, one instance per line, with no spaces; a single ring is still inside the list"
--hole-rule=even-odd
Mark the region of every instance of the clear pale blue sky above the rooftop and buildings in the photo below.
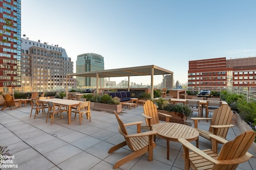
[[[256,55],[255,6],[255,0],[21,0],[21,35],[64,48],[74,73],[77,55],[97,53],[105,69],[156,65],[186,83],[188,61]],[[161,81],[154,76],[154,85]],[[150,77],[130,82],[150,85]]]

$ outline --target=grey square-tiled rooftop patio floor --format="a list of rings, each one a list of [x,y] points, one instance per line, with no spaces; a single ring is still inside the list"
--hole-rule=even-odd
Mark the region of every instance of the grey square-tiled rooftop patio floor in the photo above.
[[[54,124],[45,123],[46,115],[42,112],[36,119],[30,118],[31,106],[27,105],[14,110],[4,109],[0,112],[0,145],[8,146],[9,152],[14,155],[13,163],[18,169],[37,170],[110,170],[114,163],[130,154],[130,149],[125,146],[108,154],[108,149],[124,141],[117,129],[117,121],[112,113],[91,110],[92,121],[74,119],[68,125],[67,115],[54,116]],[[34,113],[34,111],[33,111]],[[143,107],[136,109],[124,107],[118,114],[124,123],[143,121]],[[193,117],[197,117],[196,113]],[[192,121],[188,120],[191,125]],[[208,129],[210,122],[200,121],[199,128]],[[232,124],[235,124],[232,122]],[[194,125],[192,125],[194,127]],[[128,127],[129,133],[136,133],[136,127]],[[240,129],[235,126],[228,131],[227,140],[232,140],[240,134]],[[182,170],[183,148],[178,142],[170,142],[170,160],[166,159],[166,140],[156,137],[157,146],[153,150],[153,161],[148,162],[147,154],[140,156],[120,167],[123,170]],[[192,142],[196,145],[196,142]],[[219,148],[221,145],[219,144]],[[210,141],[199,136],[199,148],[210,148]],[[241,170],[256,169],[256,153],[249,161],[238,166]],[[6,168],[2,168],[5,170]],[[16,169],[16,168],[13,168]]]

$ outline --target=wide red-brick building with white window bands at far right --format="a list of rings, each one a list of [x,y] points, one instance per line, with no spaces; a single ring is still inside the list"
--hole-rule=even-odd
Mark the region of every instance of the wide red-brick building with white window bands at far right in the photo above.
[[[256,87],[256,57],[226,57],[189,61],[188,88],[239,89]]]

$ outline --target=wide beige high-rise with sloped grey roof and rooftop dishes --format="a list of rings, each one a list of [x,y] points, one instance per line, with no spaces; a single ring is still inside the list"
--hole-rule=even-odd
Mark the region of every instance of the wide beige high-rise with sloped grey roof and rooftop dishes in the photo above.
[[[25,36],[25,35],[24,35]],[[76,88],[76,79],[66,74],[73,73],[73,61],[64,48],[22,38],[21,41],[22,91],[65,91]]]

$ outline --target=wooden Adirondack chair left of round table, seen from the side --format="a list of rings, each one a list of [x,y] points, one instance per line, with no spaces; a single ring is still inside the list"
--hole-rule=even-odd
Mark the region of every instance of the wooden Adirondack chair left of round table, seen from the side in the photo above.
[[[123,146],[128,146],[133,152],[129,154],[128,156],[118,160],[115,164],[113,169],[118,168],[125,164],[126,162],[137,158],[138,156],[141,156],[148,152],[148,161],[153,160],[153,148],[156,147],[156,143],[153,142],[153,135],[157,133],[156,130],[151,130],[148,132],[140,132],[140,125],[143,123],[141,121],[139,122],[132,122],[132,123],[126,123],[124,124],[123,121],[119,118],[116,111],[114,111],[114,114],[116,115],[116,119],[118,121],[118,131],[120,134],[124,136],[125,141],[121,142],[120,144],[117,144],[110,148],[108,150],[108,153],[112,153],[115,150],[118,150],[119,148],[122,148]],[[137,125],[137,133],[136,134],[128,134],[126,130],[126,126],[131,125]]]

